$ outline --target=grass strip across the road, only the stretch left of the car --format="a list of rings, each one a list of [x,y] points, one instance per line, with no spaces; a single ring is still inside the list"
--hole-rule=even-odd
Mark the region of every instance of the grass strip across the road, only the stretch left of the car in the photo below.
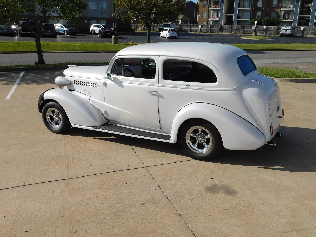
[[[129,47],[128,43],[112,45],[109,43],[41,42],[42,51],[119,51]],[[0,52],[36,51],[35,42],[0,42]]]

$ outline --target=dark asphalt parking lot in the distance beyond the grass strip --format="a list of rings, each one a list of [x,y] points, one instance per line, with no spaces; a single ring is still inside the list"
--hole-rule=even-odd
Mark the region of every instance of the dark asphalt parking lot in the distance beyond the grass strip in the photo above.
[[[248,34],[250,35],[250,34]],[[179,42],[179,41],[191,41],[191,42],[209,42],[209,43],[222,43],[222,44],[272,44],[272,43],[316,43],[316,37],[280,37],[279,35],[270,35],[273,40],[248,40],[240,39],[241,34],[206,34],[206,33],[178,33],[177,39],[165,39],[160,38],[158,32],[151,32],[151,42]],[[131,40],[134,43],[146,42],[147,33],[118,33],[119,43],[129,43]],[[17,41],[17,35],[12,36],[0,36],[0,41]],[[20,37],[20,41],[34,41],[33,36]],[[78,33],[77,35],[63,35],[58,34],[57,38],[45,37],[41,38],[43,42],[86,42],[86,43],[111,43],[111,38],[100,38],[97,35],[89,33]]]

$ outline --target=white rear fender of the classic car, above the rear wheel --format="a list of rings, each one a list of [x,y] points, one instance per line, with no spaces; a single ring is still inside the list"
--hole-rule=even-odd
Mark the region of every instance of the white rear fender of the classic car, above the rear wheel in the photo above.
[[[212,123],[222,136],[223,146],[230,150],[254,150],[264,145],[263,133],[240,116],[222,107],[207,103],[189,104],[175,115],[171,139],[176,142],[181,124],[193,118]]]

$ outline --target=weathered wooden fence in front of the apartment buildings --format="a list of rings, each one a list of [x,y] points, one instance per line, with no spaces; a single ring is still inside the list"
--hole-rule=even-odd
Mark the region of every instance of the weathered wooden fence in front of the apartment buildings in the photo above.
[[[132,24],[135,31],[147,31],[142,24]],[[151,31],[158,32],[160,25],[152,25]],[[282,26],[257,26],[257,34],[280,34]],[[293,27],[294,35],[316,35],[316,27]],[[252,34],[252,26],[247,25],[176,25],[177,32],[196,32],[196,33],[232,33],[232,34]]]

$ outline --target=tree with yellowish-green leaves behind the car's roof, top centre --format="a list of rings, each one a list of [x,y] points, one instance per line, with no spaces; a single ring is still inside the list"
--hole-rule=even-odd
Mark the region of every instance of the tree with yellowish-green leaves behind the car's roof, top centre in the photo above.
[[[135,19],[147,28],[146,43],[150,43],[150,29],[154,22],[178,19],[185,10],[185,0],[114,0],[118,18],[129,23]]]

